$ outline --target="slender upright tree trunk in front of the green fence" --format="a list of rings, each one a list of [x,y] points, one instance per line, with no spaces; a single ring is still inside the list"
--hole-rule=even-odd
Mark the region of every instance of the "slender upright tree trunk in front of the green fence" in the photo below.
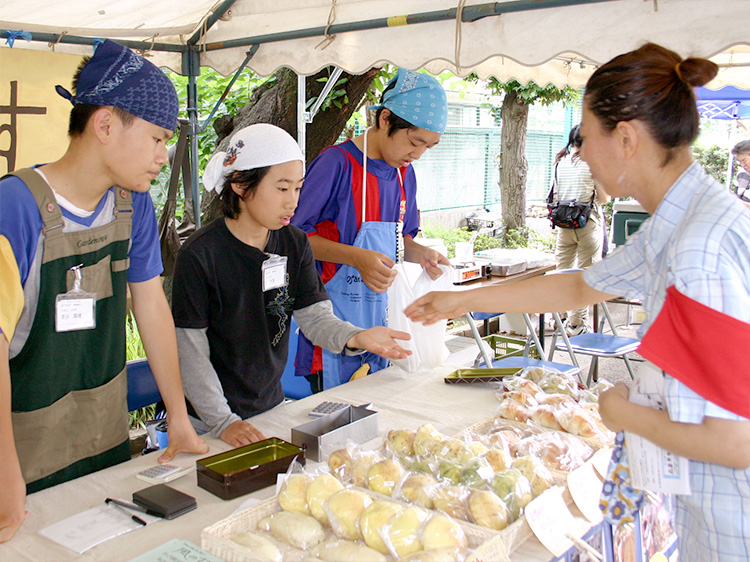
[[[526,225],[526,124],[529,106],[514,91],[506,92],[500,107],[500,202],[505,229]]]

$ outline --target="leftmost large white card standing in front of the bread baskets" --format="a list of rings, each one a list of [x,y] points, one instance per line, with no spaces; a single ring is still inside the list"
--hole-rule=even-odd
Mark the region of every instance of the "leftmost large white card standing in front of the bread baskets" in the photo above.
[[[562,556],[574,546],[566,535],[582,536],[591,524],[575,517],[565,505],[564,489],[550,488],[526,506],[526,520],[544,547],[554,556]]]

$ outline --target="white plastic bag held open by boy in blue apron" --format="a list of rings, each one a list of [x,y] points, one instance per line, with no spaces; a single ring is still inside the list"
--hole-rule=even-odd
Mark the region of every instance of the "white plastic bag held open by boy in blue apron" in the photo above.
[[[391,365],[407,373],[437,367],[449,354],[445,346],[447,320],[425,326],[409,320],[404,309],[430,291],[450,291],[453,287],[450,268],[441,265],[443,274],[434,281],[418,264],[396,264],[394,269],[398,275],[388,288],[388,327],[411,334],[411,340],[400,343],[404,349],[410,349],[412,354],[406,359],[392,359]],[[415,277],[416,280],[412,281]]]

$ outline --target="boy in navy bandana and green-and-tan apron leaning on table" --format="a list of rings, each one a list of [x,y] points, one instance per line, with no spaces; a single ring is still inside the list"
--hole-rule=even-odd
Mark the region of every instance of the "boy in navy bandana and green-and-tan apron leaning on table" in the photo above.
[[[84,60],[65,155],[0,180],[0,542],[26,493],[128,460],[130,289],[169,417],[167,462],[208,450],[190,425],[148,195],[178,101],[152,63],[112,41]]]

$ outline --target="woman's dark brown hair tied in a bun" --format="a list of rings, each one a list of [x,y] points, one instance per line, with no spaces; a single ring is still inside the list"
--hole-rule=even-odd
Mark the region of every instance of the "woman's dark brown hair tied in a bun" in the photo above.
[[[709,82],[719,67],[706,59],[682,59],[654,43],[613,58],[589,78],[584,104],[607,132],[620,121],[638,119],[667,150],[690,144],[698,136],[700,117],[693,88]]]

